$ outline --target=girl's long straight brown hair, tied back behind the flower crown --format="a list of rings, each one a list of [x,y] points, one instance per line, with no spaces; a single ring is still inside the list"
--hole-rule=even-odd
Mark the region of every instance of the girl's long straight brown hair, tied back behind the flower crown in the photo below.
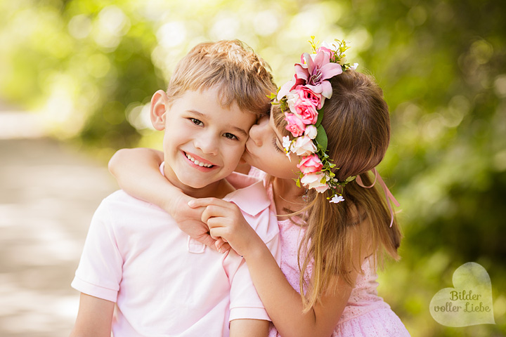
[[[361,175],[364,185],[371,185],[368,171],[380,164],[390,140],[389,110],[382,89],[371,77],[353,70],[330,82],[333,93],[325,100],[322,125],[328,138],[327,153],[339,168],[336,178],[344,181]],[[283,113],[279,109],[272,113],[278,129],[285,129]],[[324,292],[335,291],[336,277],[353,286],[351,268],[361,272],[361,265],[353,258],[357,253],[373,254],[375,261],[382,261],[385,252],[398,259],[401,232],[395,219],[389,227],[391,215],[384,196],[376,187],[363,188],[356,180],[344,187],[342,195],[344,202],[331,204],[327,193],[310,190],[311,201],[297,212],[304,214],[306,223],[299,246],[305,310],[318,303]],[[307,277],[309,265],[311,280]]]

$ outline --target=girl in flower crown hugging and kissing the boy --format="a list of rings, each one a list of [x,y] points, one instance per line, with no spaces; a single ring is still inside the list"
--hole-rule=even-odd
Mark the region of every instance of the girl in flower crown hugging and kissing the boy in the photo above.
[[[186,220],[181,227],[188,234],[205,237],[202,220],[213,238],[244,256],[275,326],[270,336],[409,336],[375,282],[377,263],[385,253],[397,259],[401,240],[388,200],[395,199],[375,169],[389,144],[387,103],[372,79],[339,65],[339,46],[313,51],[296,64],[271,116],[252,126],[243,155],[257,168],[251,175],[267,173],[279,216],[280,266],[235,205],[190,201],[161,180],[157,152],[121,150],[111,172],[127,192]]]

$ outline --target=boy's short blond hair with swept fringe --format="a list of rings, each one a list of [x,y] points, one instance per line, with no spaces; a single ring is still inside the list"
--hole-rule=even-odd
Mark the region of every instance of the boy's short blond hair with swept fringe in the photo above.
[[[236,103],[240,110],[266,114],[267,97],[276,91],[270,67],[239,40],[197,44],[176,65],[167,96],[170,101],[185,91],[219,88],[223,107]]]

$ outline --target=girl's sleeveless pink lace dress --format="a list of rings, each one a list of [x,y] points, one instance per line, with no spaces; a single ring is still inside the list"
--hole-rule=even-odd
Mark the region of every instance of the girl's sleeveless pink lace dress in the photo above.
[[[265,173],[252,168],[251,176],[264,178]],[[272,189],[268,188],[273,200]],[[281,270],[290,285],[299,292],[299,265],[297,251],[304,236],[304,227],[295,225],[290,220],[278,221],[280,228]],[[410,336],[401,319],[377,295],[377,274],[372,268],[372,261],[365,260],[362,265],[363,275],[359,274],[356,285],[351,291],[344,312],[335,327],[333,337],[405,337]],[[311,270],[309,270],[311,272]],[[273,324],[269,337],[280,336]]]

